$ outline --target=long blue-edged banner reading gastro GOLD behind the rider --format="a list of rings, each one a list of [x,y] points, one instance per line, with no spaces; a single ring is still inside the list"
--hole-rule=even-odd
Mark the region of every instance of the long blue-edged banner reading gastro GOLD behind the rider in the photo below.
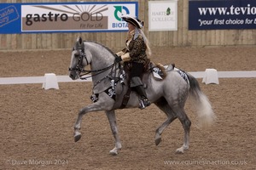
[[[121,16],[137,13],[137,2],[1,3],[0,33],[127,31]]]

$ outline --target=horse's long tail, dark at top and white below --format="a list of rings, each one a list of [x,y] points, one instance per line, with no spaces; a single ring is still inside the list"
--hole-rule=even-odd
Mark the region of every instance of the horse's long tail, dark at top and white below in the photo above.
[[[215,121],[216,116],[212,111],[212,105],[207,98],[206,94],[203,94],[199,83],[190,74],[187,74],[189,78],[189,97],[195,106],[196,113],[198,116],[198,126],[199,127],[210,127]]]

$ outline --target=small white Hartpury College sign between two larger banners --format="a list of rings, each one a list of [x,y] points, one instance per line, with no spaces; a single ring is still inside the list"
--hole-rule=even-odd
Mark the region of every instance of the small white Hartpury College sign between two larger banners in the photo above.
[[[177,31],[177,1],[148,2],[148,31]]]

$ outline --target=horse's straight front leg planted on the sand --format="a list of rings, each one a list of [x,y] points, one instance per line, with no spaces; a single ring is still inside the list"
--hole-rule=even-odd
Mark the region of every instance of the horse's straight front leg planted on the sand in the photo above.
[[[116,156],[119,154],[119,150],[121,150],[122,145],[119,139],[119,133],[118,133],[118,127],[116,123],[116,118],[115,118],[115,113],[114,111],[106,111],[106,115],[108,116],[108,122],[110,124],[112,133],[113,133],[113,138],[115,140],[115,146],[113,150],[109,151],[109,154]]]

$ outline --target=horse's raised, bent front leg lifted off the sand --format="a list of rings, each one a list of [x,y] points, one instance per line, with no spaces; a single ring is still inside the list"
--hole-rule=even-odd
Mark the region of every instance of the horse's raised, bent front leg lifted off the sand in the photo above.
[[[104,96],[104,95],[107,95],[107,96]],[[106,99],[108,99],[108,94],[102,94],[101,100],[98,100],[96,103],[88,105],[79,111],[78,119],[74,125],[74,141],[75,142],[77,142],[77,141],[79,141],[79,139],[81,139],[81,133],[79,132],[79,130],[81,128],[82,117],[86,113],[91,112],[91,111],[106,111],[106,110],[112,109],[113,101],[109,100],[106,102]]]

